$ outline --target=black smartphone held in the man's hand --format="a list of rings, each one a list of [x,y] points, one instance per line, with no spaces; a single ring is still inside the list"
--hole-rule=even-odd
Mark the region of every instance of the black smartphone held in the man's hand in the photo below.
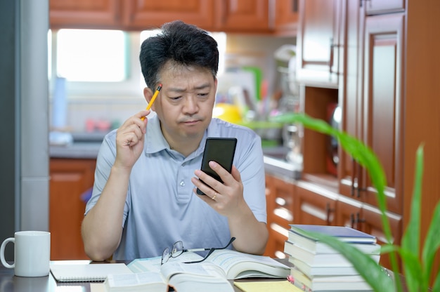
[[[200,169],[212,176],[212,178],[215,178],[216,180],[219,180],[219,182],[223,183],[219,175],[217,175],[217,173],[209,167],[209,161],[216,161],[216,163],[220,164],[221,167],[225,168],[226,171],[231,173],[236,145],[236,138],[207,138],[205,152],[203,152],[202,167]],[[205,193],[197,189],[197,194]]]

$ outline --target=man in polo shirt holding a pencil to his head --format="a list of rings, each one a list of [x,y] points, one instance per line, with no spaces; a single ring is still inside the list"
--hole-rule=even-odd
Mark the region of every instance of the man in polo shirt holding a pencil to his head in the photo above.
[[[263,253],[268,232],[261,140],[247,128],[212,119],[216,41],[193,25],[170,22],[143,42],[140,61],[147,102],[162,84],[152,107],[156,114],[138,112],[103,141],[82,223],[87,255],[150,258],[175,241],[212,248],[231,237],[236,250]],[[231,173],[210,162],[224,183],[200,171],[207,137],[238,139]],[[197,187],[206,195],[196,194]]]

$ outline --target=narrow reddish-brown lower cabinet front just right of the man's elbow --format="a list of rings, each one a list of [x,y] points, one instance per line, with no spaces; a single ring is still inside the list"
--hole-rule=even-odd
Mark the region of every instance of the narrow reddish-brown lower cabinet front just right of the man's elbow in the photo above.
[[[265,255],[283,258],[284,241],[293,220],[295,185],[266,175],[267,225],[269,232]]]

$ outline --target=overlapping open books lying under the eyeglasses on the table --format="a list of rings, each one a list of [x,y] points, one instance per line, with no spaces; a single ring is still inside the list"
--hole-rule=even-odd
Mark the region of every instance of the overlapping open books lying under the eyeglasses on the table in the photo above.
[[[182,253],[160,265],[161,258],[137,259],[129,263],[133,274],[110,274],[106,291],[167,291],[167,285],[179,292],[233,291],[230,279],[248,277],[286,278],[290,267],[262,255],[231,250],[217,250],[202,263],[190,263],[202,257]]]

